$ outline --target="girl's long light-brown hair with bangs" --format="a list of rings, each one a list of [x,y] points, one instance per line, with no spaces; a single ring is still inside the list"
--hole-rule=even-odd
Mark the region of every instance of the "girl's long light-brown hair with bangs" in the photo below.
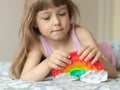
[[[27,55],[30,49],[30,45],[38,40],[40,32],[35,25],[35,18],[39,11],[45,10],[49,7],[60,5],[66,5],[68,8],[69,17],[72,20],[76,20],[79,11],[75,4],[71,0],[26,0],[24,5],[24,13],[22,23],[20,27],[20,47],[14,58],[14,61],[10,68],[10,77],[12,79],[19,79],[24,64],[27,59]]]

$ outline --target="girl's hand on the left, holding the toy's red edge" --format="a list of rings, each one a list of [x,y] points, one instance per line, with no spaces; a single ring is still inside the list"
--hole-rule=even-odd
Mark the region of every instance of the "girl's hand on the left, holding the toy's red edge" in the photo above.
[[[69,53],[55,50],[51,56],[48,57],[48,65],[50,68],[60,70],[67,64],[71,64],[71,61],[68,58],[70,58]]]

